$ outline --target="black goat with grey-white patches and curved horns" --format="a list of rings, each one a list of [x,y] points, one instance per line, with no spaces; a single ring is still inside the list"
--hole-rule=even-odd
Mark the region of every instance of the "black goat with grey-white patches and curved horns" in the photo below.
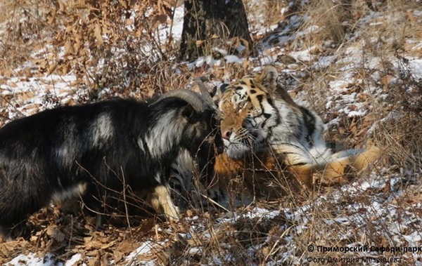
[[[52,199],[81,197],[102,213],[129,190],[147,191],[156,211],[178,218],[167,180],[179,150],[197,158],[206,178],[223,148],[215,107],[188,90],[152,103],[114,99],[11,121],[0,129],[0,233],[10,238]]]

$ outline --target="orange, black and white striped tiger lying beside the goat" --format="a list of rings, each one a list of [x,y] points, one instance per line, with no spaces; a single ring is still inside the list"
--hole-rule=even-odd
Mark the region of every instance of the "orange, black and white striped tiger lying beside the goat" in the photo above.
[[[268,65],[253,77],[219,86],[220,130],[226,148],[216,159],[220,178],[257,173],[259,161],[262,172],[282,171],[313,189],[316,173],[330,182],[346,182],[347,174],[380,157],[378,147],[334,153],[324,140],[321,117],[298,105],[278,84],[278,77],[276,67]]]

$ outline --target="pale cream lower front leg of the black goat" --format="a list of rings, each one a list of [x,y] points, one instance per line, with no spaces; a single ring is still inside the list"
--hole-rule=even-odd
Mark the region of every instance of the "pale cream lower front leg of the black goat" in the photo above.
[[[164,213],[167,220],[179,219],[179,211],[173,204],[169,188],[166,185],[158,185],[151,194],[151,205],[155,211]]]

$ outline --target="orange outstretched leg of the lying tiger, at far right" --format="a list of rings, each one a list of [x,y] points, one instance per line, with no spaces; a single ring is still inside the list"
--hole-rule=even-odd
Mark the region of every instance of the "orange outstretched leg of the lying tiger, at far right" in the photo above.
[[[362,171],[381,157],[381,149],[371,147],[364,150],[346,150],[333,154],[326,164],[290,166],[296,178],[307,187],[313,187],[314,174],[330,183],[347,182],[347,175]]]

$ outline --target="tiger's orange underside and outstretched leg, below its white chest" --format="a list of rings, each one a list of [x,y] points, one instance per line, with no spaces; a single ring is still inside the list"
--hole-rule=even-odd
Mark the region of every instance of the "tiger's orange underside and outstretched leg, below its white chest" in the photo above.
[[[350,175],[373,164],[381,156],[381,149],[371,147],[345,157],[340,157],[341,154],[347,151],[333,154],[326,164],[283,166],[279,164],[283,160],[270,152],[243,159],[231,159],[224,153],[216,158],[216,183],[234,187],[232,182],[240,180],[251,194],[267,198],[298,192],[304,187],[312,190],[315,178],[329,185],[343,184],[350,180]]]

